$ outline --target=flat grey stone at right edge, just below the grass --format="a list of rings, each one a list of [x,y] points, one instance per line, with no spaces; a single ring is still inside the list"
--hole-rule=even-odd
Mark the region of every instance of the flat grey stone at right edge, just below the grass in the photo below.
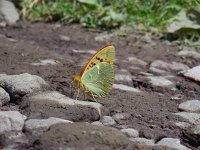
[[[196,58],[199,59],[200,58],[200,53],[194,51],[194,50],[187,50],[186,48],[184,48],[182,51],[177,53],[178,56],[184,56],[184,57],[192,57],[192,58]]]

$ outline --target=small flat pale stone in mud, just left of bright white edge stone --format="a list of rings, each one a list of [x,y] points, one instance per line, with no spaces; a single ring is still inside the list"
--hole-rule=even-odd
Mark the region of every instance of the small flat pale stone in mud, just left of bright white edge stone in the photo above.
[[[146,78],[150,79],[150,83],[154,86],[172,87],[174,85],[173,82],[171,82],[163,76],[148,76]]]

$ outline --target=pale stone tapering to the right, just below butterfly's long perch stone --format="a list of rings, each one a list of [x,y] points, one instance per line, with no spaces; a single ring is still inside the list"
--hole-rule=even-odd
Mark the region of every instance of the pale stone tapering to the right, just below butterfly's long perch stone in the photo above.
[[[48,119],[29,119],[25,122],[25,130],[34,135],[38,135],[40,134],[40,132],[46,131],[50,126],[58,123],[73,123],[73,122],[54,117]]]

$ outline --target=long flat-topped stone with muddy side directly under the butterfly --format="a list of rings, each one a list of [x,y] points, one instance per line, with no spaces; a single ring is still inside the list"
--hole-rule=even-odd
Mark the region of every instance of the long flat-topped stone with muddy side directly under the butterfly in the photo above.
[[[57,91],[47,91],[25,99],[21,107],[31,118],[56,117],[72,121],[96,121],[101,116],[102,105],[74,100]]]

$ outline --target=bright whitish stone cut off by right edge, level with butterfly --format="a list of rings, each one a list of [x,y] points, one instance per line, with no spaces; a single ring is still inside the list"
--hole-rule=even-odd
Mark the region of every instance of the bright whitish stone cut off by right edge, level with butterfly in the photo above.
[[[183,74],[186,78],[200,82],[200,66],[196,66]]]

